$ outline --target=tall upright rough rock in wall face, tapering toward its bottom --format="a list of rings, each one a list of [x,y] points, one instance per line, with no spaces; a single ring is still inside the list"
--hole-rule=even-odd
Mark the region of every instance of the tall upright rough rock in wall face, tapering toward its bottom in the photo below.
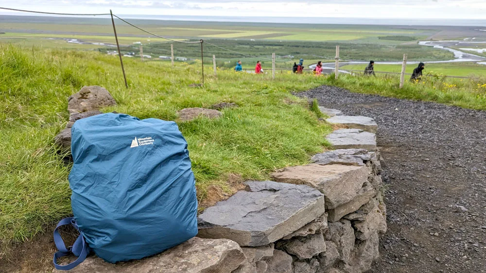
[[[332,241],[336,244],[340,260],[344,263],[351,262],[356,238],[354,237],[354,229],[350,221],[341,220],[329,223],[329,228],[324,236],[326,241]]]

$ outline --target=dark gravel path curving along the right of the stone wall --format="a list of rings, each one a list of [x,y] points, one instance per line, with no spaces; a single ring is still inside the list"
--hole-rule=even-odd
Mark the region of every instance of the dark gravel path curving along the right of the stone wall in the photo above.
[[[297,96],[375,118],[388,232],[373,273],[486,273],[486,112],[321,86]]]

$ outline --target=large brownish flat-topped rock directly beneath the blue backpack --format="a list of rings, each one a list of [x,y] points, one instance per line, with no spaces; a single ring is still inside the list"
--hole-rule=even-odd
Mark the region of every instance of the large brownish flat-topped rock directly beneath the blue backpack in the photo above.
[[[92,256],[70,273],[229,273],[246,262],[234,241],[192,238],[152,257],[111,264]],[[54,270],[53,273],[65,271]]]

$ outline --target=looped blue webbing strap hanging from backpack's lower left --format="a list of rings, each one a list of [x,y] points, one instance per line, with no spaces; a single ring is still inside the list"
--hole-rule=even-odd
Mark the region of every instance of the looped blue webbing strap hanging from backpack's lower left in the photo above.
[[[78,239],[74,241],[74,244],[72,246],[66,247],[64,241],[62,240],[61,234],[59,234],[59,231],[57,230],[62,225],[72,225],[74,226],[74,228],[76,228],[78,232],[79,232],[79,228],[78,225],[76,225],[76,221],[74,220],[74,217],[68,217],[61,220],[59,224],[57,224],[56,228],[54,229],[54,243],[56,244],[56,247],[58,249],[58,251],[54,253],[54,258],[53,258],[54,267],[58,270],[70,270],[86,259],[89,250],[85,238],[81,233],[79,234]],[[68,256],[71,253],[74,256],[78,257],[75,261],[67,265],[57,264],[57,259],[59,257]]]

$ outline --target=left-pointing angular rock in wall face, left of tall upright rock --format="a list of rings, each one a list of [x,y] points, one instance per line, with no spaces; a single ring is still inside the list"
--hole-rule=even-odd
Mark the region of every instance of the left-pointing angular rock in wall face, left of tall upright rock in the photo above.
[[[278,242],[277,246],[279,249],[283,249],[299,259],[310,259],[326,251],[326,243],[322,234],[294,237],[289,241]]]

